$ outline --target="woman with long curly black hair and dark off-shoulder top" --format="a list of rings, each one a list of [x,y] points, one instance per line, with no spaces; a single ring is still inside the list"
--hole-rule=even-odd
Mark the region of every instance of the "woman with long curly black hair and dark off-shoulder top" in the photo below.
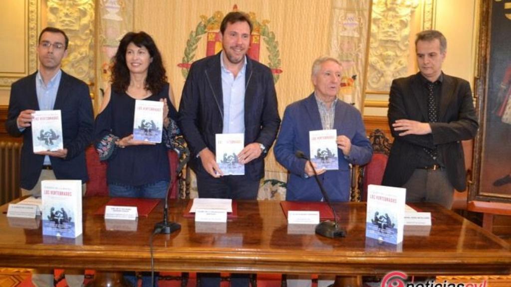
[[[147,33],[129,32],[112,61],[111,86],[95,126],[96,149],[101,160],[108,161],[109,195],[165,198],[170,180],[165,139],[161,143],[133,139],[136,100],[164,102],[164,129],[172,129],[171,122],[177,121],[160,52]],[[125,279],[136,283],[134,276]],[[143,286],[151,285],[146,279],[150,278],[143,276]]]

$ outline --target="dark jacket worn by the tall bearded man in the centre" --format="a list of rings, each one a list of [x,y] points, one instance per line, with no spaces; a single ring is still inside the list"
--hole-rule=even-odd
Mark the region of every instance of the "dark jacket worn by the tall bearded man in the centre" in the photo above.
[[[179,127],[191,151],[191,167],[201,165],[197,154],[204,148],[215,153],[215,134],[223,130],[223,93],[220,71],[221,53],[192,64],[184,83],[179,105]],[[281,119],[270,69],[247,57],[245,74],[245,145],[262,143],[270,149]],[[253,180],[264,176],[262,154],[245,165]]]

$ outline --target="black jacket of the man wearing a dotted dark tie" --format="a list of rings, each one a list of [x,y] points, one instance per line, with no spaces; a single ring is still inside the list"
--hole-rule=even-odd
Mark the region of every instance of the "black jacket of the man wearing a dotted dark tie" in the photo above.
[[[479,127],[470,84],[443,75],[438,122],[430,123],[431,134],[399,136],[392,124],[397,119],[428,122],[427,95],[419,73],[392,81],[388,123],[394,142],[383,176],[383,185],[403,186],[416,168],[415,156],[423,147],[438,149],[445,161],[449,181],[457,190],[466,189],[466,170],[461,140],[474,138]]]

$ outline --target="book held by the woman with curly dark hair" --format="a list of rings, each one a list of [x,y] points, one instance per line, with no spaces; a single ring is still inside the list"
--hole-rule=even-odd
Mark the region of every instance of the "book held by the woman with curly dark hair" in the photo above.
[[[163,129],[163,102],[135,101],[133,139],[161,142]]]

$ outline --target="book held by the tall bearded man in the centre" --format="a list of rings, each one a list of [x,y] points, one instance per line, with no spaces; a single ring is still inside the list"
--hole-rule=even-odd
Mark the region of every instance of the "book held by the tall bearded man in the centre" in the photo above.
[[[243,150],[245,135],[242,133],[216,134],[216,160],[224,175],[244,175],[245,165],[238,161]]]

